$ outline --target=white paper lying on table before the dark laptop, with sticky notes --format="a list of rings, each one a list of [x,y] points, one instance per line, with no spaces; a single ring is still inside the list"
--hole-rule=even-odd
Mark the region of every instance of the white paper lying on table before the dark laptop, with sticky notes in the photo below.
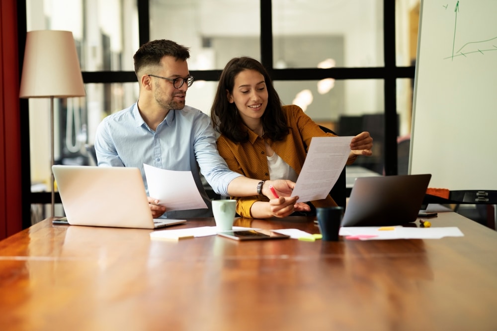
[[[392,228],[392,230],[379,230],[381,228]],[[463,237],[464,234],[458,227],[380,227],[380,226],[355,226],[341,227],[340,236],[353,236],[360,240],[382,240],[382,239],[440,239],[443,237]]]

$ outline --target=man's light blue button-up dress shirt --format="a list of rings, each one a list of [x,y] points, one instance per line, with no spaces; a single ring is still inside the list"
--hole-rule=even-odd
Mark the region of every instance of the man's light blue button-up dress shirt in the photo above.
[[[212,216],[199,167],[214,192],[222,196],[229,196],[228,184],[241,176],[231,171],[219,155],[209,116],[189,106],[170,110],[156,131],[143,121],[137,103],[109,115],[98,125],[95,152],[99,166],[139,168],[147,196],[144,163],[161,169],[191,171],[209,209],[173,210],[166,212],[163,218]]]

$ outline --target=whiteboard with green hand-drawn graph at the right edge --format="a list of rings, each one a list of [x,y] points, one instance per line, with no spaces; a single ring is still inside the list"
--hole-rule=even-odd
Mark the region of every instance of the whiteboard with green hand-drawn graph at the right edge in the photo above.
[[[421,1],[409,173],[497,190],[497,0]]]

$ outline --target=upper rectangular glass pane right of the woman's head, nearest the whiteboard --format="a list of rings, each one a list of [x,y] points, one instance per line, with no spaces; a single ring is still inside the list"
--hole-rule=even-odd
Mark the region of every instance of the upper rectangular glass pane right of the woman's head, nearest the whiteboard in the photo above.
[[[273,66],[383,66],[383,1],[273,0]]]

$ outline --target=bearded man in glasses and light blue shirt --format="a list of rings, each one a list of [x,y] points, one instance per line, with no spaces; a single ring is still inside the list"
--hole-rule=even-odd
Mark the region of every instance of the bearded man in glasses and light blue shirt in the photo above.
[[[179,171],[191,171],[209,209],[167,212],[158,200],[149,197],[154,218],[212,216],[211,203],[200,181],[199,167],[214,192],[222,196],[254,196],[272,199],[272,185],[281,198],[270,202],[273,215],[284,217],[305,208],[298,197],[288,198],[294,183],[286,180],[261,182],[232,172],[216,148],[210,118],[198,109],[185,106],[186,91],[193,83],[186,60],[189,49],[170,40],[154,40],[134,55],[140,84],[137,103],[106,117],[98,126],[95,152],[99,166],[137,167],[143,164]],[[164,183],[167,185],[167,183]],[[167,202],[166,202],[167,203]]]

